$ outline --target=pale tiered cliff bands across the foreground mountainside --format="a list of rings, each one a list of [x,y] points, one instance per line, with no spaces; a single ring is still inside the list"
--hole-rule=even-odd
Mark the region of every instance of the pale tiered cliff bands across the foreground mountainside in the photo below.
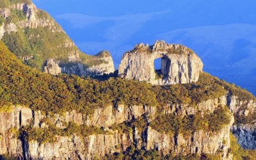
[[[212,113],[220,105],[227,104],[226,97],[209,99],[194,107],[175,104],[164,106],[165,114],[177,116]],[[219,154],[222,159],[230,159],[232,155],[228,152],[230,148],[230,127],[234,122],[221,128],[218,132],[205,132],[199,130],[189,134],[166,134],[146,126],[141,129],[133,127],[131,131],[118,131],[113,125],[131,122],[143,115],[147,115],[147,121],[152,122],[156,118],[157,108],[147,106],[106,106],[95,109],[93,115],[84,116],[81,113],[65,113],[64,115],[45,115],[40,111],[13,106],[12,111],[0,113],[0,155],[8,154],[13,157],[26,157],[27,159],[93,159],[104,157],[106,154],[123,152],[131,145],[146,150],[156,149],[162,154],[186,155],[186,154]],[[65,123],[74,122],[78,125],[97,126],[107,131],[106,134],[92,134],[81,136],[71,134],[70,136],[56,136],[56,142],[42,143],[24,138],[17,138],[17,131],[26,125],[35,128],[48,128],[43,120],[49,121],[58,128],[65,128]]]

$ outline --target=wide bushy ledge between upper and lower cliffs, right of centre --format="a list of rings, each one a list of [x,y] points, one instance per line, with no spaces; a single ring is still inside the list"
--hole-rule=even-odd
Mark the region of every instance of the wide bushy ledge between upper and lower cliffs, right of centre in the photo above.
[[[200,113],[183,118],[173,114],[159,115],[150,123],[150,127],[158,132],[172,135],[190,134],[199,130],[218,132],[225,125],[230,124],[230,114],[227,106],[220,106],[213,113],[204,116],[201,116]]]

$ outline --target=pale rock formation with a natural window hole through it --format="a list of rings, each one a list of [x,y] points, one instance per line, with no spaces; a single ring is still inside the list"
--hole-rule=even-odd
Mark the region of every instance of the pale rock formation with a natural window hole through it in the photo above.
[[[154,68],[157,58],[161,58],[159,74]],[[184,84],[198,81],[202,69],[202,61],[188,47],[157,41],[153,46],[138,44],[126,52],[118,75],[159,85]]]

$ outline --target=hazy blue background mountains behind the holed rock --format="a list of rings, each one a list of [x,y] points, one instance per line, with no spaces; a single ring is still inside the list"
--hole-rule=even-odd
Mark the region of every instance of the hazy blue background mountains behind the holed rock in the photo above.
[[[140,42],[184,44],[204,70],[256,94],[256,1],[33,1],[89,54],[122,54]]]

